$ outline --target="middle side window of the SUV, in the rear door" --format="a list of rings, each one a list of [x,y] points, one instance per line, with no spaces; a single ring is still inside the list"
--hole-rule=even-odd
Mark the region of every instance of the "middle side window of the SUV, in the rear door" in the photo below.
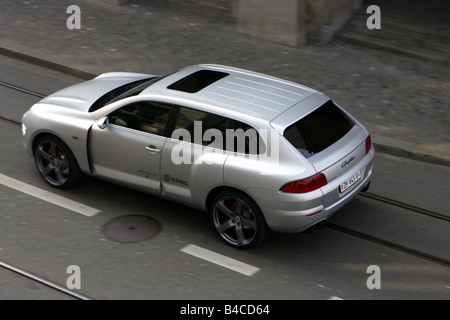
[[[222,149],[225,147],[227,118],[181,107],[172,138]]]

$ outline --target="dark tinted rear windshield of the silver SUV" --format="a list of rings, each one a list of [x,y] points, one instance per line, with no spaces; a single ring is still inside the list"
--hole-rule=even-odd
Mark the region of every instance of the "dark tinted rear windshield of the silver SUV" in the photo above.
[[[341,139],[353,125],[353,121],[330,100],[289,126],[284,137],[309,158]]]

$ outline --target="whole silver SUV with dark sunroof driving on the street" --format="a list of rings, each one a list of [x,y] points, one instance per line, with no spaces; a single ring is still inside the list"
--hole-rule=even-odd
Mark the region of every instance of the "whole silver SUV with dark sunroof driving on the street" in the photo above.
[[[326,95],[220,65],[105,73],[23,116],[45,181],[83,174],[208,211],[226,243],[311,230],[370,183],[368,129]]]

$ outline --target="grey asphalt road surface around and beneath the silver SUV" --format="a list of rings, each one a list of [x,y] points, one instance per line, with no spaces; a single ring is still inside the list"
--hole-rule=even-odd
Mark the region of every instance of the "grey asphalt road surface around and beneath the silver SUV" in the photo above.
[[[43,94],[82,81],[1,56],[0,70],[0,81]],[[4,87],[0,97],[0,116],[15,121],[39,100]],[[21,136],[19,125],[0,119],[3,177],[99,212],[63,208],[0,176],[0,260],[63,286],[68,267],[79,266],[75,290],[94,299],[450,299],[448,266],[333,228],[273,234],[255,249],[236,250],[219,239],[206,214],[191,208],[92,178],[52,189]],[[381,153],[375,161],[370,192],[450,216],[449,167]],[[146,241],[114,241],[104,228],[126,215],[149,216],[161,229]],[[358,196],[330,222],[450,260],[448,221]],[[381,272],[380,289],[367,286],[372,265]],[[0,299],[60,298],[0,268]]]

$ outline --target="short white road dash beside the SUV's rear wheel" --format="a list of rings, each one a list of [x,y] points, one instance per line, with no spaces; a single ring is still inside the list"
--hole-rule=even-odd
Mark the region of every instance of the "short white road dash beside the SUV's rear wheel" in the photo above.
[[[242,273],[249,277],[255,275],[259,270],[261,270],[244,262],[226,257],[224,255],[198,247],[193,244],[188,244],[187,246],[181,248],[180,251],[190,254],[194,257],[209,261],[211,263],[215,263],[219,266],[231,269],[233,271]]]

